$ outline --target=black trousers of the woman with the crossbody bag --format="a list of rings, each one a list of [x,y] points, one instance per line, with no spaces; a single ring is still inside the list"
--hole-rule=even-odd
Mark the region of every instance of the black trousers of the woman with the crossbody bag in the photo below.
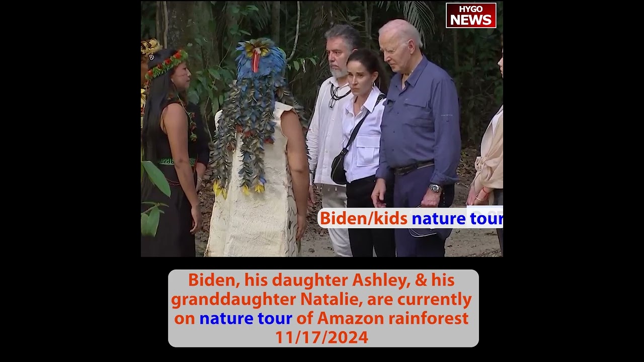
[[[374,207],[371,194],[374,192],[375,175],[354,180],[346,185],[346,207]],[[393,184],[387,185],[384,202],[393,207]],[[352,229],[349,228],[349,243],[353,256],[371,258],[375,254],[396,256],[395,229]]]

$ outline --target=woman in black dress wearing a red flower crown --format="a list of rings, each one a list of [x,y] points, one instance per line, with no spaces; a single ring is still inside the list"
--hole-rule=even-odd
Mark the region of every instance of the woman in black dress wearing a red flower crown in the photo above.
[[[171,196],[149,178],[141,185],[141,199],[165,204],[156,236],[141,236],[141,256],[195,256],[194,233],[201,229],[202,214],[196,193],[194,166],[198,154],[196,123],[186,109],[185,91],[191,73],[184,50],[159,50],[149,57],[149,82],[143,117],[142,148],[166,177]],[[142,205],[141,212],[147,205]]]

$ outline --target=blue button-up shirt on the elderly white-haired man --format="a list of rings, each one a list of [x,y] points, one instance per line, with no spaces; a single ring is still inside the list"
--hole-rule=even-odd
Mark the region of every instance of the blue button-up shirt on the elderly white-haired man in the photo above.
[[[453,79],[423,56],[401,88],[402,75],[395,73],[381,123],[377,177],[390,178],[392,168],[433,160],[430,182],[454,184],[460,160],[460,117]]]

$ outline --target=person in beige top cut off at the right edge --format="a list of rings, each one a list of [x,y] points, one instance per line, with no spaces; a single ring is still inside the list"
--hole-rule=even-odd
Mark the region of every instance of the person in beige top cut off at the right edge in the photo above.
[[[503,49],[498,67],[503,77]],[[469,189],[468,205],[503,205],[503,105],[489,122],[474,164],[477,175]],[[497,229],[503,256],[503,229]]]

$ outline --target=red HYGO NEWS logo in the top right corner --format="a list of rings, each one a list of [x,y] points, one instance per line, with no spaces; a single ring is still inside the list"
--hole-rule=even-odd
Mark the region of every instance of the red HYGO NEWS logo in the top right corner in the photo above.
[[[497,3],[447,3],[445,28],[497,28]]]

